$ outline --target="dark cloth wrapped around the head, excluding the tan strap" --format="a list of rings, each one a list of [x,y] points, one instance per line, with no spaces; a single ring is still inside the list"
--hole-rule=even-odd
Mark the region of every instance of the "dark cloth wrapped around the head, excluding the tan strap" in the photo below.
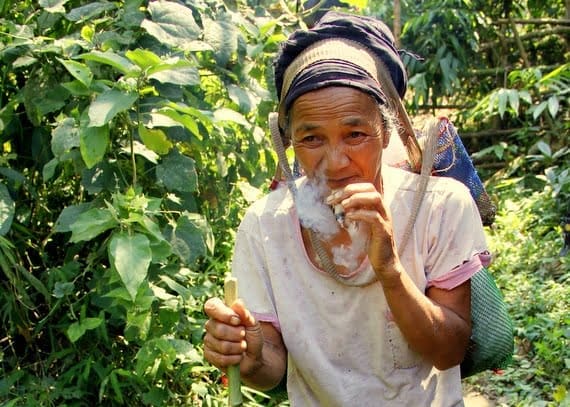
[[[295,31],[281,47],[275,61],[275,85],[281,105],[286,112],[295,99],[304,93],[327,86],[350,86],[362,90],[385,103],[386,97],[378,85],[377,78],[358,64],[337,60],[334,57],[307,66],[292,81],[287,94],[282,95],[285,71],[295,59],[311,45],[325,40],[340,38],[356,42],[367,48],[386,66],[400,97],[407,86],[406,70],[390,29],[381,21],[371,17],[339,12],[328,12],[310,30]],[[342,57],[342,49],[339,49]]]

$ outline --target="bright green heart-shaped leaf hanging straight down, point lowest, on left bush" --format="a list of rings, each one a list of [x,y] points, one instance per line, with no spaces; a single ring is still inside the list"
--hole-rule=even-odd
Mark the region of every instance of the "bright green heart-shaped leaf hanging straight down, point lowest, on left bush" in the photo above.
[[[109,243],[109,257],[134,301],[152,260],[148,238],[140,233],[116,233]]]

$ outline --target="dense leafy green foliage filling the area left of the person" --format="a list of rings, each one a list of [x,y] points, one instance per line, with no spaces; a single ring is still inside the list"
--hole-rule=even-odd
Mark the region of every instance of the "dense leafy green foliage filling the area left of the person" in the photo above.
[[[275,169],[285,28],[239,6],[1,7],[0,401],[221,400],[201,308]]]

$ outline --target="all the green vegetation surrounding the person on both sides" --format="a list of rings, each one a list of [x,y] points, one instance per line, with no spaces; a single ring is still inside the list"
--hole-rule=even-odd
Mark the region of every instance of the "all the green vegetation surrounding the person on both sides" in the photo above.
[[[498,205],[515,356],[466,386],[570,405],[568,1],[338,4],[423,58],[410,113],[455,121]],[[0,405],[225,405],[202,304],[275,170],[271,62],[306,8],[0,0]]]

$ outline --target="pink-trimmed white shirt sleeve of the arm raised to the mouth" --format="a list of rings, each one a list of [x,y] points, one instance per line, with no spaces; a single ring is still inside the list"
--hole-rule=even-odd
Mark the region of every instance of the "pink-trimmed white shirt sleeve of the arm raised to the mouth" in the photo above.
[[[428,287],[453,289],[488,264],[481,217],[467,188],[450,178],[444,192],[434,195],[428,228]]]

